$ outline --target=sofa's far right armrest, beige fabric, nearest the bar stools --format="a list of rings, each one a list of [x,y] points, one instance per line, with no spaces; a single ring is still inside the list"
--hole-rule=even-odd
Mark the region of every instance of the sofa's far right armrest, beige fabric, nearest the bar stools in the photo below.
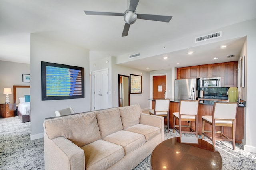
[[[161,129],[161,141],[164,141],[164,117],[141,113],[140,124],[159,127]]]

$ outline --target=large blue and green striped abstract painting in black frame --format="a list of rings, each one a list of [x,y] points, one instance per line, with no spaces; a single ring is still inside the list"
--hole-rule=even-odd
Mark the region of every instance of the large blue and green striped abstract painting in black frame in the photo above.
[[[41,61],[42,100],[84,98],[84,68]]]

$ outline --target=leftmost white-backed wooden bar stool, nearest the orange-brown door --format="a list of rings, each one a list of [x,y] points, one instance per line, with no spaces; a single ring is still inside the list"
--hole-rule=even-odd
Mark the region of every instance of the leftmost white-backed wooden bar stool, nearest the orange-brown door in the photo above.
[[[149,110],[149,114],[166,117],[167,125],[164,127],[167,127],[167,133],[169,133],[169,105],[170,99],[156,99],[155,109]]]

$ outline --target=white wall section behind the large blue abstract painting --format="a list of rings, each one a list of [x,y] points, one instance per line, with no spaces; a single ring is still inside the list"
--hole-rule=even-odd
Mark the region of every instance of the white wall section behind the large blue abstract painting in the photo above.
[[[41,61],[84,67],[85,98],[42,101]],[[88,49],[32,33],[30,35],[30,66],[31,140],[43,137],[44,119],[54,117],[56,110],[66,107],[73,107],[76,113],[90,110]]]

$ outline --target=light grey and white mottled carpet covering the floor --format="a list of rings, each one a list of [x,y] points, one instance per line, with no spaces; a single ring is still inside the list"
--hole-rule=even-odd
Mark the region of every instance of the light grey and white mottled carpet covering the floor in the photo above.
[[[1,170],[40,170],[44,169],[43,139],[30,141],[30,122],[22,123],[16,117],[0,119],[0,169]],[[172,129],[164,134],[164,139],[178,137]],[[183,135],[183,134],[182,134]],[[184,134],[193,136],[191,134]],[[201,137],[201,136],[199,136]],[[205,138],[206,141],[211,141]],[[216,150],[220,152],[223,170],[256,170],[256,154],[246,152],[241,144],[216,141]],[[134,170],[150,170],[150,156]]]

